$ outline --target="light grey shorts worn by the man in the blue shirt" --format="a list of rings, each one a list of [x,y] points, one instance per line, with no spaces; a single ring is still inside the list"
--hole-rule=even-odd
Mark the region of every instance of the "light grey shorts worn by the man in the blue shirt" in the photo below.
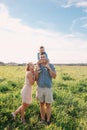
[[[36,98],[40,102],[52,103],[53,102],[52,88],[47,88],[47,87],[40,88],[40,87],[37,87]]]

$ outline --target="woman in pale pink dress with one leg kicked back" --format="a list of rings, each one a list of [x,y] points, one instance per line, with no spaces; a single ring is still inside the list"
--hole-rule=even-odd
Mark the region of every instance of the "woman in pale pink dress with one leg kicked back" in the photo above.
[[[16,118],[16,115],[18,113],[21,113],[21,121],[23,124],[26,123],[24,117],[25,109],[32,102],[32,85],[34,84],[34,82],[35,82],[34,65],[30,62],[26,65],[25,85],[21,90],[22,105],[18,107],[18,109],[15,112],[12,112],[12,117],[14,120]]]

